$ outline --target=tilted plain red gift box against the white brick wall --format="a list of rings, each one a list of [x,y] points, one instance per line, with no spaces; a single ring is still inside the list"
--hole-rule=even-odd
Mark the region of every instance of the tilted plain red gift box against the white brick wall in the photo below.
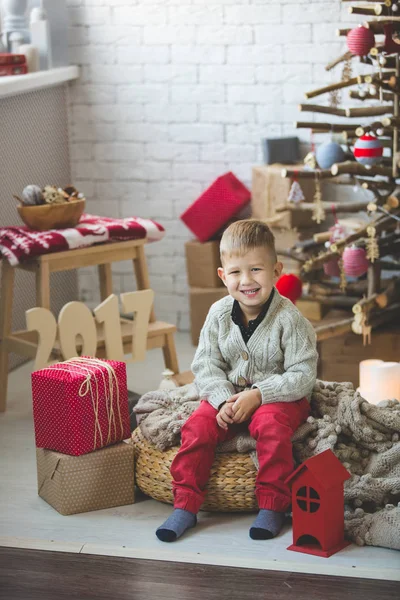
[[[201,242],[206,242],[250,202],[250,198],[250,190],[233,173],[226,173],[218,177],[180,218]]]

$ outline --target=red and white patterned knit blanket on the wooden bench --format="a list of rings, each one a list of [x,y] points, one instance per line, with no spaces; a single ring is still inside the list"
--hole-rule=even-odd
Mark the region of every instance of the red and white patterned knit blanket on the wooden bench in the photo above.
[[[50,252],[145,237],[149,242],[156,242],[164,235],[164,227],[151,219],[111,219],[84,214],[78,225],[70,229],[32,231],[28,227],[0,227],[0,254],[15,266]]]

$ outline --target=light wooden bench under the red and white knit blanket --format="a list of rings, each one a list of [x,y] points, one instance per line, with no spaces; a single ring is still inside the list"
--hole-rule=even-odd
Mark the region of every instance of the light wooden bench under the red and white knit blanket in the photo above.
[[[129,240],[43,254],[17,265],[17,267],[12,267],[7,260],[3,260],[0,288],[0,412],[6,410],[9,353],[15,352],[33,359],[38,347],[37,334],[34,331],[11,331],[15,269],[23,269],[36,274],[36,306],[50,309],[51,273],[97,265],[100,295],[103,301],[113,293],[111,272],[113,262],[131,259],[138,290],[150,288],[144,253],[145,243],[145,239]],[[132,321],[123,318],[120,320],[124,352],[128,353],[132,350]],[[179,373],[174,340],[175,332],[175,325],[156,321],[153,308],[147,333],[147,350],[162,348],[166,368],[171,369],[174,373]],[[54,346],[53,352],[62,360],[58,344]],[[96,356],[100,358],[105,356],[104,337],[102,338],[101,331],[98,335]]]

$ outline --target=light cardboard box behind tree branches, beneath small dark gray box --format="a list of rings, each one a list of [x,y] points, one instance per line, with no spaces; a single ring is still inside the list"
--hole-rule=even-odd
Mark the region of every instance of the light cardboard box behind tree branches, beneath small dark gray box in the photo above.
[[[292,227],[312,227],[312,213],[310,211],[285,211],[277,213],[276,207],[288,199],[292,180],[283,178],[281,171],[285,165],[274,164],[253,167],[251,209],[253,217],[257,219],[271,219],[280,217],[277,221],[279,227],[291,229]],[[304,165],[298,165],[299,169]],[[313,202],[315,193],[314,179],[299,180],[306,202]]]

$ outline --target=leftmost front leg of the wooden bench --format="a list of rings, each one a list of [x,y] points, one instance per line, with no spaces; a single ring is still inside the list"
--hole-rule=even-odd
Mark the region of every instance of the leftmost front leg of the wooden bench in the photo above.
[[[5,412],[7,406],[9,353],[6,348],[6,338],[11,333],[12,327],[13,294],[14,268],[3,259],[0,289],[0,412]]]

